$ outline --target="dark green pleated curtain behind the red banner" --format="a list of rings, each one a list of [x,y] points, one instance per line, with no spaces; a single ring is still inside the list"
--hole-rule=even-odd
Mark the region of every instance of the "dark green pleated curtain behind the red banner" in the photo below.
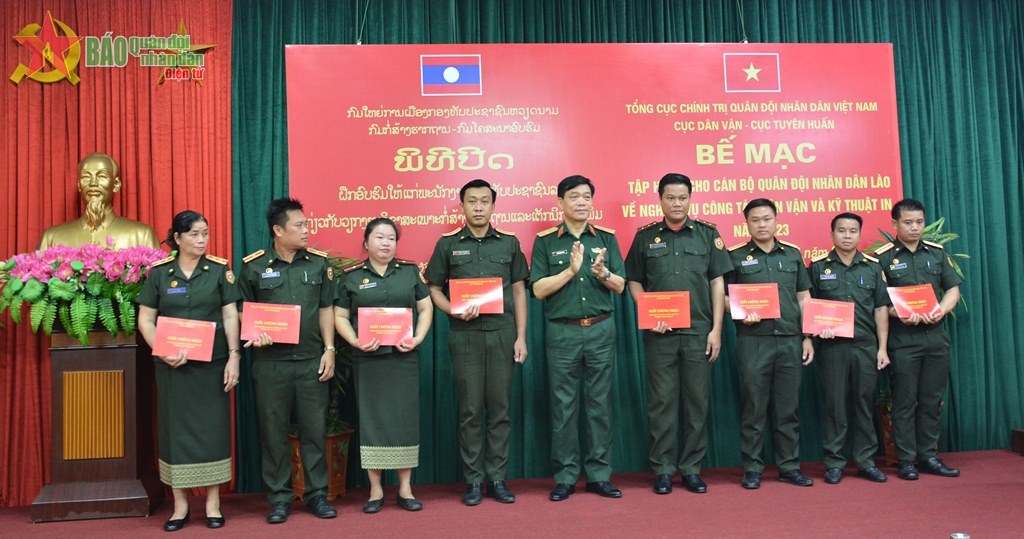
[[[953,351],[942,449],[1005,448],[1010,429],[1024,425],[1024,364],[1018,361],[1024,335],[1016,331],[1024,317],[1024,238],[1016,221],[1024,207],[1024,7],[1017,0],[267,0],[236,2],[233,25],[237,265],[246,253],[265,247],[263,211],[272,198],[288,194],[286,44],[350,44],[358,38],[369,44],[737,42],[744,35],[769,43],[893,43],[905,194],[925,202],[929,220],[945,216],[947,230],[961,235],[951,250],[972,256],[962,286],[970,312],[962,309],[947,322]],[[549,179],[568,172],[553,170]],[[613,464],[616,471],[644,470],[646,372],[632,329],[632,302],[621,300],[616,313]],[[540,301],[530,300],[529,314],[529,358],[514,388],[511,478],[550,474]],[[447,325],[437,318],[420,353],[418,483],[462,481]],[[726,326],[712,382],[708,466],[739,463],[734,332]],[[244,369],[251,379],[248,365]],[[801,455],[813,460],[821,457],[813,366],[804,382]],[[251,383],[241,385],[243,491],[262,489],[252,399]],[[354,453],[350,481],[362,484]]]

